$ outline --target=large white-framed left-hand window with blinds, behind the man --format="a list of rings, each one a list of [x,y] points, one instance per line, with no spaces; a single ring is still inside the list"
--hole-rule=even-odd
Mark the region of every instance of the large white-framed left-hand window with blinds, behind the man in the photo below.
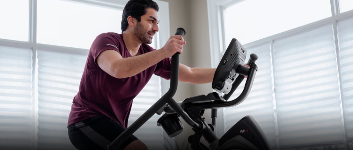
[[[164,37],[169,37],[169,7],[167,2],[156,2],[160,33],[151,46],[159,48],[159,43],[167,40]],[[0,2],[1,14],[11,13],[0,16],[5,20],[0,24],[0,149],[75,149],[67,136],[67,119],[88,49],[102,32],[121,33],[125,4],[101,0]],[[161,82],[152,76],[133,102],[129,124],[161,97]],[[158,118],[153,116],[135,133],[150,149],[163,148]]]

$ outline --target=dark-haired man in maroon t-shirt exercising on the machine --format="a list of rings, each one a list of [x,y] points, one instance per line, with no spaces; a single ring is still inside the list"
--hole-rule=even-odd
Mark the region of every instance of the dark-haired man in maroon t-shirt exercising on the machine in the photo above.
[[[186,42],[174,35],[161,49],[148,46],[158,32],[157,11],[152,0],[130,0],[122,14],[122,34],[103,33],[92,43],[68,119],[69,138],[77,149],[106,149],[126,129],[132,100],[152,74],[170,78],[170,57],[182,54]],[[179,65],[181,82],[209,83],[214,73]],[[131,136],[120,149],[147,146]]]

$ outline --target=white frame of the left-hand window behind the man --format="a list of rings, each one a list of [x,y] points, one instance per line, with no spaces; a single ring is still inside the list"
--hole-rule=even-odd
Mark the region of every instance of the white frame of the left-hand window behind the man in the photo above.
[[[108,7],[118,10],[123,10],[124,6],[128,2],[128,0],[64,0],[70,2],[78,2],[82,4],[94,5],[99,7]],[[166,43],[170,36],[170,25],[169,25],[169,3],[161,0],[154,0],[160,10],[158,11],[158,16],[162,22],[159,24],[159,34],[156,35],[156,47],[162,47],[162,43]],[[17,41],[17,40],[8,40],[0,38],[0,46],[7,47],[15,47],[15,48],[27,48],[32,50],[32,140],[35,144],[32,144],[32,149],[38,148],[38,71],[37,64],[37,52],[36,50],[40,49],[42,51],[49,52],[59,52],[59,53],[67,53],[67,54],[77,54],[87,56],[89,49],[83,48],[73,48],[73,47],[65,47],[65,46],[56,46],[49,44],[40,44],[37,43],[37,0],[28,0],[29,7],[29,24],[28,24],[28,42],[26,41]],[[167,92],[166,88],[168,87],[169,82],[161,80],[161,94]]]

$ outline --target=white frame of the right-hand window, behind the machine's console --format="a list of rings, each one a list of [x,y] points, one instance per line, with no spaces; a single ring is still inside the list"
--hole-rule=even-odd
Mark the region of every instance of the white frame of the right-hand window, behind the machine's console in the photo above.
[[[223,40],[225,38],[225,29],[224,29],[224,16],[223,16],[223,12],[224,9],[227,8],[230,5],[236,4],[238,2],[241,2],[244,0],[207,0],[207,6],[208,6],[208,22],[209,22],[209,34],[210,34],[210,48],[211,48],[211,66],[213,68],[217,67],[218,62],[221,59],[221,56],[223,55],[223,53],[225,52],[226,48],[227,48],[227,43],[225,43],[225,40]],[[333,30],[334,30],[334,39],[335,39],[335,50],[336,50],[336,56],[337,56],[337,68],[339,71],[339,82],[340,82],[340,89],[342,89],[342,77],[341,77],[341,66],[339,64],[340,63],[340,52],[339,52],[339,43],[338,43],[338,30],[337,30],[337,22],[343,21],[343,20],[347,20],[347,19],[351,19],[353,18],[353,10],[350,11],[346,11],[346,12],[342,12],[340,13],[339,10],[339,0],[330,0],[330,5],[331,5],[331,17],[325,18],[325,19],[321,19],[318,20],[316,22],[313,23],[309,23],[303,26],[299,26],[297,28],[291,29],[291,30],[287,30],[275,35],[271,35],[265,38],[262,38],[260,40],[256,40],[250,43],[246,43],[243,44],[245,48],[253,48],[253,47],[257,47],[257,46],[261,46],[262,44],[268,44],[270,45],[270,49],[271,49],[271,55],[272,57],[274,57],[274,41],[275,40],[279,40],[282,38],[286,38],[288,36],[293,36],[293,35],[297,35],[312,29],[316,29],[319,28],[321,26],[324,25],[333,25]],[[217,42],[216,42],[217,41]],[[222,50],[222,51],[221,51]],[[272,62],[273,63],[273,62]],[[342,97],[342,92],[341,92],[341,97]],[[344,102],[341,99],[341,103],[344,106]],[[343,119],[346,118],[346,114],[344,111],[344,107],[342,106],[342,110],[343,110]],[[222,122],[224,122],[224,111],[222,111],[222,113],[218,114],[218,119],[217,119],[217,123],[221,124]],[[346,122],[344,121],[344,126],[345,126],[345,130],[346,130]],[[225,129],[224,127],[221,126],[216,126],[216,134],[217,136],[222,136],[225,133]],[[347,134],[345,134],[346,139],[348,139]],[[348,148],[352,148],[352,146],[350,146],[351,142],[346,140],[346,147]]]

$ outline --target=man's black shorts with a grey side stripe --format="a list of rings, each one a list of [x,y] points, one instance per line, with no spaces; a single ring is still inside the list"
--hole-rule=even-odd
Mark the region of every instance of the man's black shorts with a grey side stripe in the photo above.
[[[125,130],[118,122],[103,115],[92,116],[82,122],[69,125],[67,129],[72,145],[79,150],[107,149],[107,145]],[[134,140],[137,138],[130,136],[121,144],[120,149],[124,149]]]

